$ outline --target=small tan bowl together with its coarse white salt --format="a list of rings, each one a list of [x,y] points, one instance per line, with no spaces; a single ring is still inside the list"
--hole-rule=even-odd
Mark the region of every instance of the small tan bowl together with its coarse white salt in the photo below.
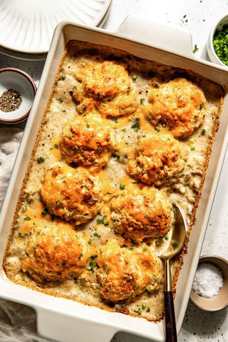
[[[228,306],[227,260],[217,255],[200,257],[190,300],[205,311],[219,311]]]

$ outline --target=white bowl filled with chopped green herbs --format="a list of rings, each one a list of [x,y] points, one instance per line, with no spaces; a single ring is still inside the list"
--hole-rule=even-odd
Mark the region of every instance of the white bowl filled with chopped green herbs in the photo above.
[[[207,41],[211,62],[228,66],[228,14],[214,25]]]

